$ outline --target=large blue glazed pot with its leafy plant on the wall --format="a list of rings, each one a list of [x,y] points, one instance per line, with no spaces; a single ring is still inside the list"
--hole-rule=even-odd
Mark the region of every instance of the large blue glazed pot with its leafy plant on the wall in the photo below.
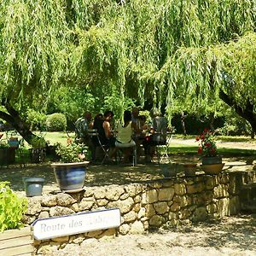
[[[53,163],[55,179],[60,189],[64,192],[77,192],[83,189],[86,166],[85,160],[88,147],[84,144],[74,143],[68,139],[67,146],[56,144],[56,154],[60,162]]]

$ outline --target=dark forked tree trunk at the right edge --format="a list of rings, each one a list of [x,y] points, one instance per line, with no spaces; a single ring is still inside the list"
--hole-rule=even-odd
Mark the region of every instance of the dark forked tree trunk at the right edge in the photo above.
[[[241,106],[235,102],[234,98],[228,96],[223,90],[219,91],[219,97],[226,104],[228,104],[230,108],[234,108],[237,114],[249,122],[249,124],[252,126],[251,137],[254,138],[256,133],[256,113],[253,113],[253,104],[247,101],[246,108],[241,108]]]

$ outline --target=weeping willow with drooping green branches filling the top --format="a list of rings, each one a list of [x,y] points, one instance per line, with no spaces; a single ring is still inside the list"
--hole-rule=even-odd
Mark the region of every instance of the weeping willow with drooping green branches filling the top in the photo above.
[[[220,98],[255,132],[255,15],[254,0],[3,0],[0,118],[26,136],[24,102],[114,86],[120,108],[133,96],[169,117]]]

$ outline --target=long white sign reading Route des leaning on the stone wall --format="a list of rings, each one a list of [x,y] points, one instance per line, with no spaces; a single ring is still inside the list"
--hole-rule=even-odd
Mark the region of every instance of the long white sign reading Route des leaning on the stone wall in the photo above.
[[[45,240],[58,236],[115,228],[119,227],[120,224],[120,210],[109,209],[53,218],[41,218],[34,221],[32,226],[35,239]]]

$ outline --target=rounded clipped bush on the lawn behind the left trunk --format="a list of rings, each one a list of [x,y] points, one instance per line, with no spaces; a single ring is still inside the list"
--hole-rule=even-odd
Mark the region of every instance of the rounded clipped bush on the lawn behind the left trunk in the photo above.
[[[63,113],[52,113],[46,119],[46,127],[48,131],[65,131],[67,127],[67,119]]]

